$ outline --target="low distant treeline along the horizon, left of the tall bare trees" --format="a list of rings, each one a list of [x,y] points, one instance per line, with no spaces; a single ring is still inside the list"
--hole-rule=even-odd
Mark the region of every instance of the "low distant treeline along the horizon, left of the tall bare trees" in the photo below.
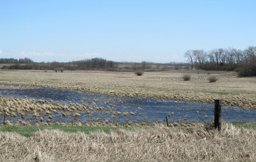
[[[185,62],[169,62],[169,63],[154,63],[154,62],[117,62],[112,60],[106,60],[103,58],[92,58],[92,59],[84,59],[79,61],[69,61],[69,62],[33,62],[33,60],[29,58],[24,59],[1,59],[0,63],[13,63],[13,65],[4,65],[2,69],[39,69],[39,70],[55,70],[63,68],[65,70],[109,70],[109,71],[135,71],[139,69],[143,69],[144,71],[165,71],[170,70],[176,66],[178,69],[181,66],[187,66],[186,69],[189,68],[190,63]],[[25,64],[25,65],[21,65]],[[124,65],[122,67],[118,65]],[[160,68],[161,67],[161,68]]]

